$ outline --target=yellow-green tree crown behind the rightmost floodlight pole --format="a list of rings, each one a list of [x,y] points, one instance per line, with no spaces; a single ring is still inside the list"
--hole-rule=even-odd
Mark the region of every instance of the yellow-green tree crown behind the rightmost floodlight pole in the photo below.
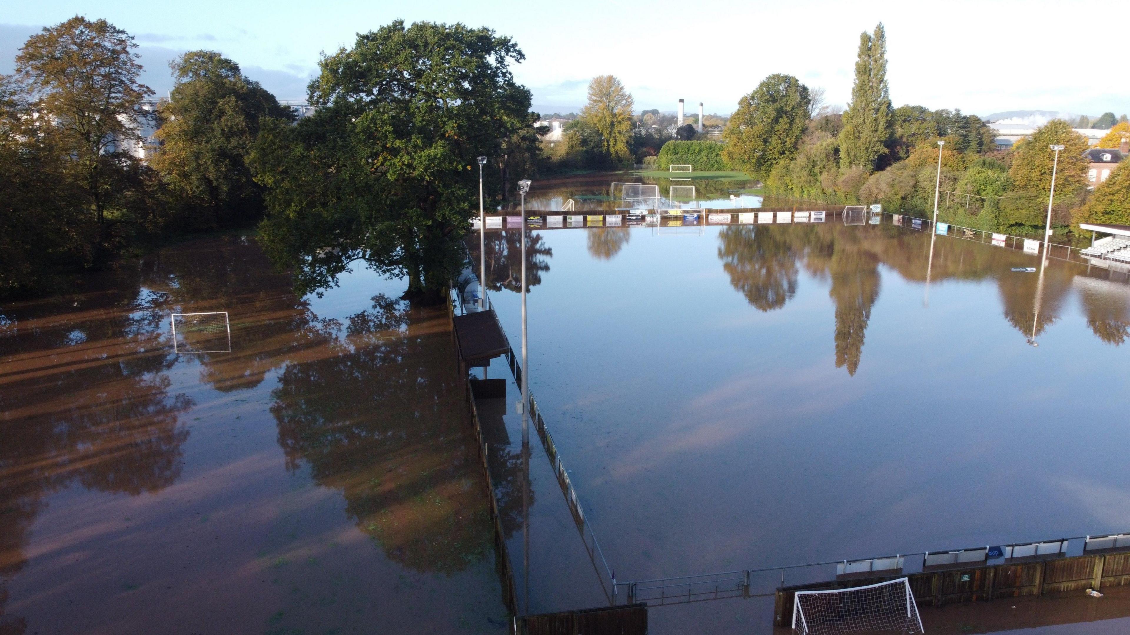
[[[1070,194],[1086,185],[1087,138],[1071,130],[1071,124],[1055,119],[1038,128],[1031,138],[1024,139],[1012,150],[1012,166],[1009,175],[1017,189],[1046,192],[1052,182],[1052,163],[1055,151],[1052,145],[1062,145],[1055,168],[1055,192]]]

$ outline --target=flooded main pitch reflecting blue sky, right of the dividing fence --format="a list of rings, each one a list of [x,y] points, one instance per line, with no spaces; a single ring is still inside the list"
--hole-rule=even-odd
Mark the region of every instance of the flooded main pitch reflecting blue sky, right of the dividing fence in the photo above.
[[[621,581],[1130,529],[1105,270],[836,219],[530,241],[531,391]]]

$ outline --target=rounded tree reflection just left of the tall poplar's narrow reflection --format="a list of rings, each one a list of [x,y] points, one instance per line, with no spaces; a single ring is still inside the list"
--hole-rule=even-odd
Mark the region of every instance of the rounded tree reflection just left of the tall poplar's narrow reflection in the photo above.
[[[730,284],[760,311],[781,308],[797,293],[797,256],[784,232],[751,226],[719,233],[718,256]]]

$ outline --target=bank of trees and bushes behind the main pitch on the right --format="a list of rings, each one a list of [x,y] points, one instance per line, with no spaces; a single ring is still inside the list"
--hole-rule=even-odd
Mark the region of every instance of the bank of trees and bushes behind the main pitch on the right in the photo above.
[[[1053,150],[1063,145],[1055,174],[1052,223],[1071,234],[1083,221],[1130,224],[1130,167],[1088,188],[1087,139],[1062,120],[998,150],[986,122],[959,110],[894,107],[886,77],[886,33],[879,24],[860,35],[852,101],[846,111],[819,104],[796,77],[772,75],[741,98],[724,132],[723,155],[770,194],[833,203],[881,203],[885,209],[932,212],[940,149],[939,218],[986,230],[1042,230],[1052,181]],[[1104,115],[1105,118],[1105,115]],[[1099,147],[1118,148],[1130,124],[1111,114]]]

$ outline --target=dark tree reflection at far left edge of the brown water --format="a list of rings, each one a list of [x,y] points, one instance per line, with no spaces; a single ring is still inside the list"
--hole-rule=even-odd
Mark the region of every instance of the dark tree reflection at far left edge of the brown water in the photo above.
[[[191,407],[169,394],[159,296],[140,272],[114,290],[19,305],[0,336],[0,575],[23,568],[43,501],[79,482],[138,495],[181,473]],[[0,625],[5,623],[0,621]]]

